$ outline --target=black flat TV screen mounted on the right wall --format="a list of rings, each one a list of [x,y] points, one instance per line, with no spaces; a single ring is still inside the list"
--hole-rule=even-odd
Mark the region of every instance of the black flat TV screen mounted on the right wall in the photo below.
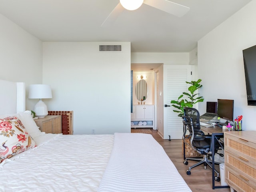
[[[256,105],[256,45],[243,50],[248,105]]]

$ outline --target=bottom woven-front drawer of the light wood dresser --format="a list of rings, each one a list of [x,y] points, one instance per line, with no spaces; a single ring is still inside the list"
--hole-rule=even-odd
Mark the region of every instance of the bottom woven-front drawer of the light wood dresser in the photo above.
[[[248,176],[238,172],[225,165],[225,181],[237,192],[256,192],[255,183],[248,179]]]

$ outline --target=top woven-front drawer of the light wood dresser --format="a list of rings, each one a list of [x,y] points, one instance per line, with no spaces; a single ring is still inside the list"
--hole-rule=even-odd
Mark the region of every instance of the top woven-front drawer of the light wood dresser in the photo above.
[[[250,162],[256,161],[256,144],[239,136],[225,134],[225,150],[242,156]]]

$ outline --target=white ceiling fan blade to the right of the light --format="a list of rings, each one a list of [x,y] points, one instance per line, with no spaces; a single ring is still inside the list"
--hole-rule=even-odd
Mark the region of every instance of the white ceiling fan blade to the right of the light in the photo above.
[[[177,17],[184,16],[190,10],[189,7],[168,0],[144,0],[143,3]]]

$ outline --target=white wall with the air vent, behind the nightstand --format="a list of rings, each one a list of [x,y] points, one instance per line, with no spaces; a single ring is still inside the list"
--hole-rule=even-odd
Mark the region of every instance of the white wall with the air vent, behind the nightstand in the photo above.
[[[122,45],[100,52],[100,44]],[[73,110],[74,134],[130,132],[130,42],[44,42],[49,110]]]

